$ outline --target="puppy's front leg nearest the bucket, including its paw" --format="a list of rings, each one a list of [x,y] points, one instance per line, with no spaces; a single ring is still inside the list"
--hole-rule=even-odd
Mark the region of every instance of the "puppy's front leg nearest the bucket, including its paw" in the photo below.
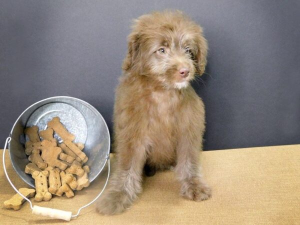
[[[107,190],[100,197],[97,211],[102,214],[117,214],[129,208],[141,192],[142,168],[145,162],[145,147],[122,146],[116,153],[116,170]],[[120,146],[118,146],[120,147]]]

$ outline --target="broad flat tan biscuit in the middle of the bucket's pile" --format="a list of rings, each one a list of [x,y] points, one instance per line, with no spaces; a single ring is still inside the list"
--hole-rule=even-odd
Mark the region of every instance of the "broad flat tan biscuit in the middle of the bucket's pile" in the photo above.
[[[60,147],[53,147],[51,142],[48,140],[43,140],[41,141],[41,145],[43,147],[43,150],[41,152],[41,158],[47,162],[49,166],[52,167],[58,167],[61,170],[66,169],[67,164],[64,163],[63,161],[57,159],[58,155],[61,152]]]

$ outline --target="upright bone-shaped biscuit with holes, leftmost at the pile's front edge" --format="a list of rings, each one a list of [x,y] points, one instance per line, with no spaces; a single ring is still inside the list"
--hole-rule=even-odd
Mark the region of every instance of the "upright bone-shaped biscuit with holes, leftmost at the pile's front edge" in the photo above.
[[[36,201],[48,201],[51,199],[52,194],[48,191],[48,182],[47,177],[49,176],[49,172],[47,170],[43,171],[34,171],[32,173],[32,178],[35,181],[35,190],[36,194],[34,196],[34,200]]]

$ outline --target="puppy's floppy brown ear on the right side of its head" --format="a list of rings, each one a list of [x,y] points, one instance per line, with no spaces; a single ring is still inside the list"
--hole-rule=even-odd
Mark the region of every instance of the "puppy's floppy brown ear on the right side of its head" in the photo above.
[[[208,45],[206,39],[202,35],[201,29],[199,30],[195,39],[197,43],[197,52],[194,57],[194,60],[196,62],[197,73],[199,73],[199,75],[202,75],[204,73],[205,66],[206,66]]]

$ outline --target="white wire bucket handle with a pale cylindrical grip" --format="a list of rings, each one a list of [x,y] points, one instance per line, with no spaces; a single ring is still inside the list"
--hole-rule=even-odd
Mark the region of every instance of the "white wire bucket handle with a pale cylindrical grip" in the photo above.
[[[40,207],[40,206],[37,206],[37,205],[34,205],[32,206],[32,202],[27,198],[25,197],[21,192],[18,191],[18,189],[16,189],[16,187],[13,185],[13,183],[11,182],[8,174],[7,174],[7,171],[6,171],[6,166],[5,166],[5,150],[6,150],[6,146],[7,146],[7,143],[9,143],[11,140],[11,137],[8,136],[5,140],[5,144],[4,144],[4,148],[3,148],[3,155],[2,155],[2,162],[3,162],[3,169],[4,169],[4,173],[5,173],[5,176],[8,180],[8,182],[10,183],[10,185],[12,186],[12,188],[19,194],[21,195],[26,201],[29,202],[30,204],[30,208],[32,210],[32,214],[36,214],[36,215],[44,215],[44,216],[49,216],[51,218],[58,218],[58,219],[64,219],[66,221],[69,221],[72,217],[77,217],[80,213],[80,210],[82,208],[85,208],[87,206],[89,206],[90,204],[92,204],[95,200],[98,199],[98,197],[102,194],[102,192],[104,191],[106,185],[107,185],[107,182],[108,182],[108,178],[109,178],[109,173],[110,173],[110,161],[109,161],[109,153],[108,153],[108,156],[107,156],[107,160],[106,162],[108,161],[108,173],[107,173],[107,178],[106,178],[106,181],[105,181],[105,184],[102,188],[102,190],[100,191],[100,193],[93,199],[91,200],[89,203],[83,205],[82,207],[80,207],[77,211],[76,214],[72,215],[72,212],[71,211],[64,211],[64,210],[59,210],[59,209],[55,209],[55,208],[47,208],[47,207]],[[106,164],[105,162],[105,164]]]

